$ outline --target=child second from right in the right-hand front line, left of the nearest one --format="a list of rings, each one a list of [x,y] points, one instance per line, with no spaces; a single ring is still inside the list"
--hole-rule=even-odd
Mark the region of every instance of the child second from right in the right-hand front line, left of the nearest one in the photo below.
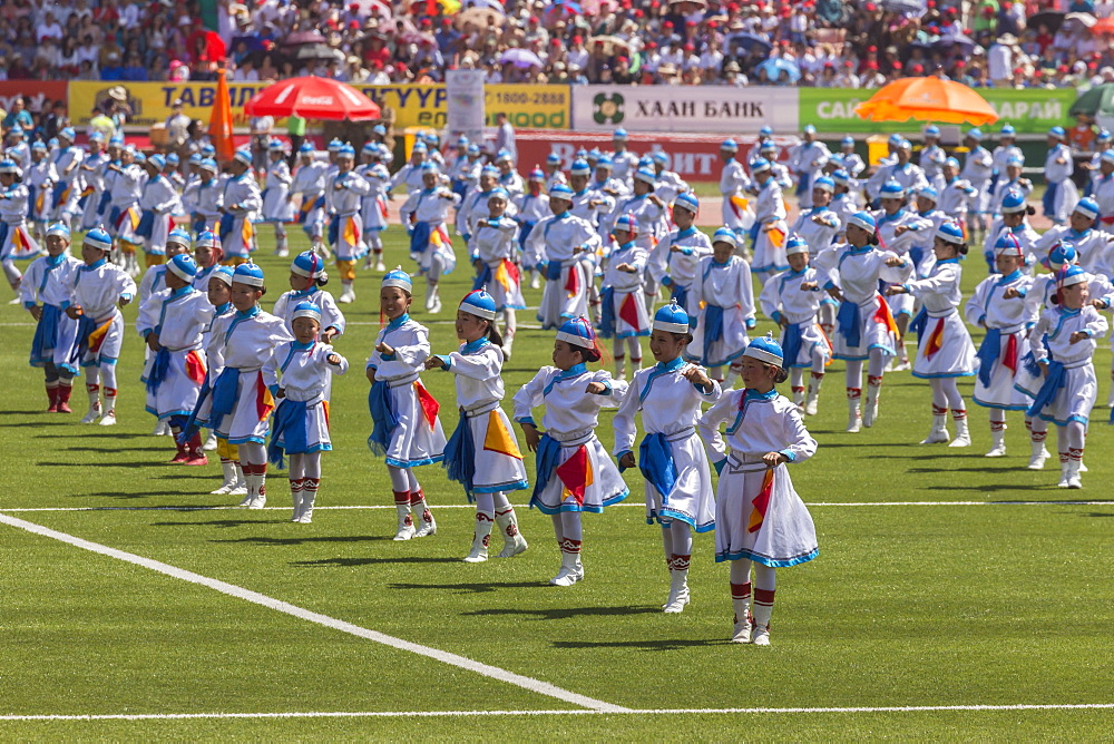
[[[1018,239],[1009,234],[999,237],[995,247],[997,273],[979,282],[966,307],[967,322],[986,329],[978,349],[979,366],[973,400],[990,410],[993,446],[986,453],[988,458],[1006,454],[1006,411],[1024,411],[1032,404],[1032,400],[1014,386],[1019,361],[1029,351],[1025,330],[1030,313],[1025,297],[1032,290],[1033,277],[1022,271],[1023,266],[1025,253]],[[1033,424],[1027,417],[1025,424],[1033,439],[1033,458],[1043,464],[1047,457],[1046,432],[1040,431],[1039,438],[1033,437]]]

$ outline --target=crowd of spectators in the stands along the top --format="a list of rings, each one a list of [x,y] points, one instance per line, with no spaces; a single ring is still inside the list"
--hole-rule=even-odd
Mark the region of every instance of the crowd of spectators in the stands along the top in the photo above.
[[[232,80],[315,74],[436,82],[874,88],[944,75],[970,86],[1114,81],[1114,0],[6,0],[0,79]],[[1078,20],[1065,13],[1083,13]]]

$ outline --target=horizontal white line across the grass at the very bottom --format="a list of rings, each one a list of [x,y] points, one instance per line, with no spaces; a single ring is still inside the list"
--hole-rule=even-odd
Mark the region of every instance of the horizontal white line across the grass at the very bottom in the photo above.
[[[799,708],[662,708],[617,711],[305,711],[286,713],[110,713],[88,715],[0,715],[0,721],[188,721],[193,718],[452,718],[468,716],[550,715],[677,715],[677,714],[817,714],[817,713],[947,713],[1013,711],[1110,711],[1114,703],[1064,703],[1046,705],[883,705]]]

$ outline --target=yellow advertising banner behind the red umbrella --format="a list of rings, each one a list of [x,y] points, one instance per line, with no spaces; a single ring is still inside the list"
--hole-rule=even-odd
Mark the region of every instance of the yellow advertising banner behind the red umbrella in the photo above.
[[[88,126],[92,109],[99,106],[114,86],[128,91],[128,105],[134,114],[133,126],[149,127],[166,121],[170,105],[182,99],[183,112],[208,124],[216,82],[113,82],[75,80],[69,84],[69,115],[76,126]],[[441,84],[368,86],[358,90],[380,106],[394,109],[394,126],[444,128],[448,121],[448,95]],[[232,118],[236,127],[247,126],[244,104],[264,88],[258,82],[229,82]],[[507,114],[516,129],[568,129],[570,91],[568,86],[489,85],[485,86],[486,116],[489,125],[495,115]]]

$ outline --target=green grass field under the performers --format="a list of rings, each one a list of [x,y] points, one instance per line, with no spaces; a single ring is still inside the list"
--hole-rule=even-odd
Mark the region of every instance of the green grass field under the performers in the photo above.
[[[305,244],[292,236],[292,247]],[[400,236],[388,234],[389,263],[409,267]],[[289,265],[270,246],[258,258],[272,286],[266,307],[286,288]],[[969,293],[985,268],[976,257],[966,270]],[[449,319],[468,273],[448,277],[440,316],[416,312],[434,352],[457,345]],[[813,505],[821,555],[779,571],[773,646],[737,646],[726,642],[727,571],[713,561],[711,535],[696,539],[693,603],[682,615],[661,611],[661,538],[645,525],[643,484],[631,471],[626,503],[585,518],[586,580],[571,588],[547,585],[559,564],[550,522],[525,508],[526,554],[461,562],[472,511],[438,467],[418,472],[437,536],[390,539],[389,479],[365,444],[362,370],[379,327],[378,283],[360,273],[359,298],[344,307],[349,331],[336,347],[353,370],[334,384],[335,451],[324,458],[312,525],[289,521],[285,478],[274,469],[275,508],[247,511],[229,508],[240,497],[208,495],[217,464],[165,464],[170,440],[152,437],[143,412],[134,307],[125,313],[119,425],[102,429],[78,423],[80,388],[76,413],[42,412],[41,376],[27,365],[30,316],[0,306],[0,385],[9,391],[0,407],[0,737],[1110,737],[1114,588],[1102,567],[1114,557],[1114,464],[1104,410],[1095,412],[1085,489],[1063,491],[1055,458],[1043,472],[1025,469],[1018,414],[1007,458],[983,457],[988,425],[974,405],[974,447],[917,446],[930,399],[908,372],[887,375],[874,428],[844,433],[842,364],[833,364],[821,412],[808,421],[819,452],[792,468]],[[527,291],[532,304],[539,296]],[[419,309],[421,300],[419,291]],[[520,314],[508,391],[548,363],[553,334],[532,322],[532,312]],[[759,331],[771,327],[763,321]],[[451,375],[424,380],[451,430]],[[969,395],[970,384],[961,390]],[[609,448],[608,414],[599,433]],[[159,561],[174,575],[14,520]],[[270,599],[248,601],[242,590]],[[507,673],[521,677],[508,682]]]

